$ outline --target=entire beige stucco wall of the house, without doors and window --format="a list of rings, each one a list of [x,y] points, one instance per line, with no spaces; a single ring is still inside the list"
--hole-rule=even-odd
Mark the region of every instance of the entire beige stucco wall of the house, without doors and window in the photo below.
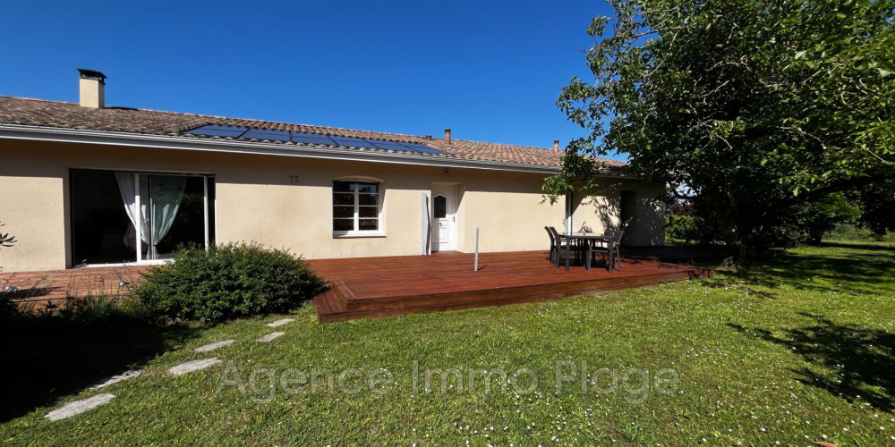
[[[419,255],[422,194],[432,184],[458,191],[456,248],[472,252],[480,229],[482,252],[547,249],[545,225],[565,227],[566,203],[541,203],[544,174],[252,156],[173,149],[117,148],[0,139],[0,232],[18,242],[0,249],[6,272],[72,266],[70,169],[215,175],[217,241],[258,241],[308,258]],[[382,182],[383,234],[338,238],[332,233],[334,179]],[[661,243],[661,213],[648,201],[655,188],[636,190],[637,218],[629,243]],[[619,189],[576,199],[573,229],[601,232],[619,219]],[[431,209],[431,204],[430,204]],[[659,231],[656,230],[659,228]]]

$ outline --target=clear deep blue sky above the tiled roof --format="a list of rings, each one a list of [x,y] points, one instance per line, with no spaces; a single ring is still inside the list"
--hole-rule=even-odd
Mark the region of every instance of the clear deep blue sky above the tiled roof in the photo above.
[[[0,95],[525,146],[584,130],[555,102],[601,2],[7,2]]]

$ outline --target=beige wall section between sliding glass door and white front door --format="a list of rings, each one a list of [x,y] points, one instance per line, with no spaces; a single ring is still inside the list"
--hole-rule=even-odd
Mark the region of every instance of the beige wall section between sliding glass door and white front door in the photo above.
[[[215,158],[218,241],[256,240],[308,258],[420,253],[421,194],[428,193],[429,182],[406,166],[277,156]],[[228,158],[236,158],[231,161],[239,169]],[[290,182],[293,175],[298,180]],[[331,187],[339,178],[382,181],[383,236],[333,236]]]

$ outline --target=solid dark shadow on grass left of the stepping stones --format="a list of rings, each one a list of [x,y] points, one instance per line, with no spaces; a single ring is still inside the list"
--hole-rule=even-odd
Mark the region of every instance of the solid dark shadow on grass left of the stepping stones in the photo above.
[[[83,321],[20,316],[0,321],[0,423],[61,396],[139,368],[197,329],[151,325],[132,316]]]

